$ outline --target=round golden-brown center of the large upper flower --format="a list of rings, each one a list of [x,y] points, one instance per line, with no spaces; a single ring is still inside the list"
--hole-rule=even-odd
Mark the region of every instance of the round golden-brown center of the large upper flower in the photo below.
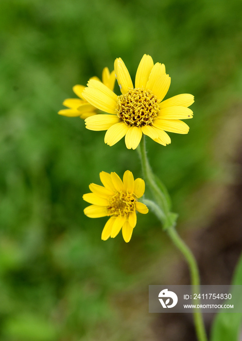
[[[159,113],[157,102],[150,90],[131,89],[118,97],[116,114],[127,125],[146,126]]]

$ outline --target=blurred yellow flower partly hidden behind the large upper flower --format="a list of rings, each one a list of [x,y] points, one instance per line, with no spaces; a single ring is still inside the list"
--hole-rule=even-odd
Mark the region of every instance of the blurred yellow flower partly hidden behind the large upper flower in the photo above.
[[[101,80],[94,76],[90,79],[96,80],[99,83],[102,83]],[[110,89],[114,89],[115,84],[115,73],[114,71],[109,73],[107,67],[104,68],[102,74],[102,81],[104,85]],[[73,86],[74,93],[80,98],[67,98],[64,100],[63,105],[68,107],[69,109],[63,109],[58,112],[59,115],[68,116],[68,117],[77,117],[80,116],[81,118],[85,119],[86,117],[96,115],[97,108],[93,105],[89,104],[86,99],[83,97],[83,90],[86,87],[84,85],[75,85]]]

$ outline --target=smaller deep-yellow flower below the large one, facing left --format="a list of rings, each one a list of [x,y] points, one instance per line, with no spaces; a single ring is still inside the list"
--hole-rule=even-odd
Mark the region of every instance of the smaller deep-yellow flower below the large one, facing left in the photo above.
[[[148,208],[137,201],[144,194],[144,180],[134,180],[130,170],[124,172],[123,181],[115,172],[109,174],[105,171],[100,173],[100,179],[104,186],[90,184],[92,193],[83,195],[83,199],[92,204],[84,209],[84,213],[90,218],[109,216],[102,239],[116,237],[122,228],[123,239],[128,243],[136,226],[136,211],[148,213]]]

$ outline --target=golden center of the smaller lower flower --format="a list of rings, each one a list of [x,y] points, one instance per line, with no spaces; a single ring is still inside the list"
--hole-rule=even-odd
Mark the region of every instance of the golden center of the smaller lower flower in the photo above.
[[[135,197],[133,194],[117,192],[109,199],[109,215],[127,215],[135,210]]]

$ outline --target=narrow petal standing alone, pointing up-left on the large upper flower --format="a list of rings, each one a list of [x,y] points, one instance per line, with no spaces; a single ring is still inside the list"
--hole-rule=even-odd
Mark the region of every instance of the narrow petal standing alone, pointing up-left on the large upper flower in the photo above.
[[[128,69],[121,58],[115,59],[114,71],[122,94],[134,88]]]

